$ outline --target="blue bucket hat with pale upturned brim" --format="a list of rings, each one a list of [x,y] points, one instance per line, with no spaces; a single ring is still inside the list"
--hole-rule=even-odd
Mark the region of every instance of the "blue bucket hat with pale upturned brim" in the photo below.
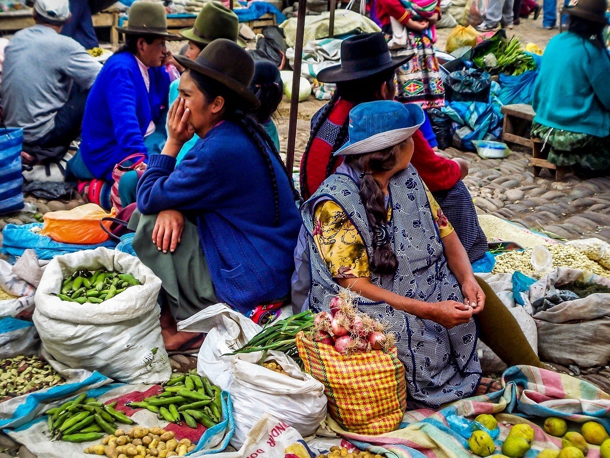
[[[391,100],[361,103],[350,111],[350,139],[335,156],[372,153],[398,145],[411,137],[424,120],[423,110],[413,103]]]

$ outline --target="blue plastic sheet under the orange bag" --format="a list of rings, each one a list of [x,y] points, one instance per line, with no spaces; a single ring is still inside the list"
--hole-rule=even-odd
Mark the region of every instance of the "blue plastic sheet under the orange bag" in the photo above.
[[[5,255],[21,256],[28,248],[34,250],[38,255],[38,259],[52,259],[55,256],[67,255],[82,250],[95,250],[98,247],[113,249],[116,242],[107,240],[98,245],[77,245],[70,243],[61,243],[52,240],[50,237],[40,235],[32,229],[42,228],[41,223],[24,224],[17,226],[15,224],[7,224],[2,231],[2,247],[0,252]]]

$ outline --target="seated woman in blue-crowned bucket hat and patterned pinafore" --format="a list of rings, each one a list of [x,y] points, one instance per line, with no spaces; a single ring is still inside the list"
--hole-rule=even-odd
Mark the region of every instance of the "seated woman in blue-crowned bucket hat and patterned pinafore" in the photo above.
[[[409,163],[411,136],[423,120],[414,104],[354,107],[350,140],[335,153],[345,160],[304,203],[301,216],[312,273],[309,307],[328,311],[337,294],[355,296],[360,311],[396,336],[411,406],[436,408],[499,387],[481,379],[476,355],[475,316],[484,310],[486,294],[458,236]],[[523,363],[540,366],[529,352],[531,362]]]

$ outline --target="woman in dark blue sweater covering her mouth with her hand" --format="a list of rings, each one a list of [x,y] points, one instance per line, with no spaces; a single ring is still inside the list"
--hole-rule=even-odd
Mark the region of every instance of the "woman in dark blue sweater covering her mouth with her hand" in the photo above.
[[[251,316],[260,305],[289,301],[300,228],[292,178],[262,126],[243,114],[259,104],[248,89],[252,58],[220,38],[195,61],[176,59],[188,70],[170,108],[168,140],[149,158],[139,213],[130,220],[138,258],[163,282],[168,349],[193,337],[170,329],[170,318],[217,302]],[[200,140],[176,166],[193,134]]]

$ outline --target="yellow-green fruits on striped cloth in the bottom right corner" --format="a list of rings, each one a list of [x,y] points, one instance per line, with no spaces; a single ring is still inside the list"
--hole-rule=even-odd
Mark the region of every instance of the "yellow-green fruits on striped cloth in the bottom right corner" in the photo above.
[[[497,430],[498,422],[492,415],[479,415],[475,424],[483,428],[474,431],[468,439],[472,453],[487,457],[495,452],[495,444],[490,434]],[[567,432],[568,424],[563,418],[549,417],[544,422],[547,434],[562,437],[561,450],[544,449],[538,458],[584,458],[589,453],[589,445],[601,445],[601,457],[610,456],[610,437],[605,427],[596,421],[582,424],[581,432]],[[496,431],[497,434],[497,431]],[[534,440],[534,429],[525,423],[515,424],[502,443],[502,454],[509,458],[523,458],[531,449]]]

